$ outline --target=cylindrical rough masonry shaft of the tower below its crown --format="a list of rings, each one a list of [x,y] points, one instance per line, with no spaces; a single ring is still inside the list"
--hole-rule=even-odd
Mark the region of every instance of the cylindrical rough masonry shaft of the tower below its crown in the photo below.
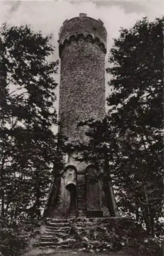
[[[61,53],[60,132],[69,142],[87,141],[79,121],[105,115],[105,53],[85,38],[73,40]]]

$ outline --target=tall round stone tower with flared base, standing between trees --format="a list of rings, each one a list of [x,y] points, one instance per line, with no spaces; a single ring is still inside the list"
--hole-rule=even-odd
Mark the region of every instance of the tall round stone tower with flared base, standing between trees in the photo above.
[[[102,120],[105,116],[106,38],[103,22],[83,13],[65,20],[59,32],[59,133],[73,146],[88,141],[87,127],[79,127],[80,121]],[[76,156],[75,151],[67,152],[60,188],[58,191],[52,188],[45,217],[111,216],[103,182],[97,179],[103,168],[77,161]],[[112,216],[116,216],[112,188],[110,193]]]

